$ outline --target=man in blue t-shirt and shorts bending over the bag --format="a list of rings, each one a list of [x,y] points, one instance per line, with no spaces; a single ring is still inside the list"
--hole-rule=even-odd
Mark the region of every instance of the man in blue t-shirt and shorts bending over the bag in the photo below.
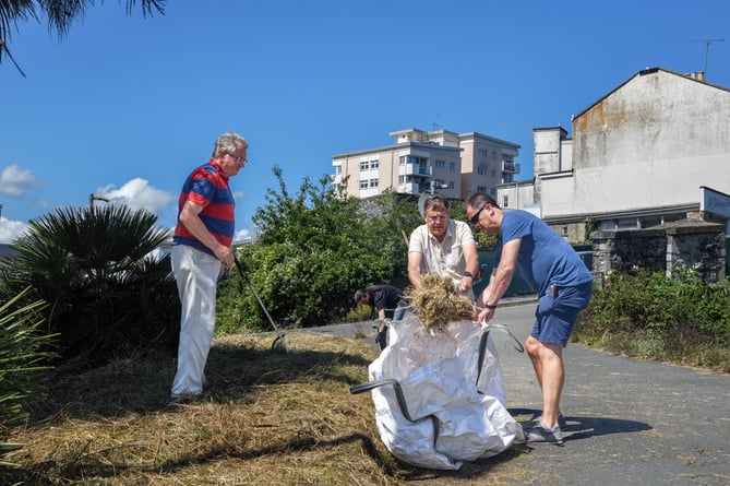
[[[563,348],[581,310],[593,294],[593,274],[554,229],[531,213],[503,211],[489,194],[477,192],[465,212],[476,229],[499,235],[494,270],[476,300],[479,322],[494,310],[515,272],[538,294],[535,325],[525,348],[542,389],[542,416],[526,430],[530,442],[563,443],[560,396],[565,382]],[[564,425],[563,425],[564,426]]]

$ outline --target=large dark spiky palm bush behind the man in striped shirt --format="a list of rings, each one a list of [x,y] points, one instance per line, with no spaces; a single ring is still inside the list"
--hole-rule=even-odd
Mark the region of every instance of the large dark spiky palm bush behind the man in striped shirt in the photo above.
[[[156,221],[123,205],[59,209],[29,222],[0,277],[8,292],[29,285],[48,303],[46,330],[60,334],[64,357],[172,345],[177,287],[169,256],[153,256],[170,232],[155,228]]]

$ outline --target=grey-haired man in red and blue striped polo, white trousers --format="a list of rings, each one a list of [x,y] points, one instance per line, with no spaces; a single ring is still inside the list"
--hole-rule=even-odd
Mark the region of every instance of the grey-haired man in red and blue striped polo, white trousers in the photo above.
[[[186,179],[172,238],[172,272],[182,305],[178,369],[171,396],[194,398],[205,384],[205,361],[215,329],[216,283],[234,264],[234,195],[228,179],[246,166],[248,143],[226,132],[207,164]]]

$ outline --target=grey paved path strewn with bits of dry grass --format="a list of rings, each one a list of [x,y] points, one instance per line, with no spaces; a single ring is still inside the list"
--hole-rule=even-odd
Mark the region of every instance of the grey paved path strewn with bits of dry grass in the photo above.
[[[516,304],[500,307],[494,321],[507,324],[524,342],[535,305]],[[320,331],[352,336],[356,329],[373,332],[369,322]],[[531,365],[505,333],[493,336],[507,407],[518,422],[527,422],[542,408]],[[480,484],[480,477],[489,484],[490,467],[515,467],[520,474],[511,484],[730,485],[730,376],[630,359],[573,343],[564,359],[565,444],[534,444],[528,453],[502,462],[465,465],[464,484]],[[447,483],[460,484],[458,478],[450,475]]]

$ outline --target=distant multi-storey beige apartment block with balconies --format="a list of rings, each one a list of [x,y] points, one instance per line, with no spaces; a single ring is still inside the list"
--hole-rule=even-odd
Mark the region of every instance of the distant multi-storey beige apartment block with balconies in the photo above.
[[[333,156],[333,183],[370,198],[385,191],[439,192],[464,199],[480,191],[496,195],[496,186],[514,180],[519,145],[477,132],[398,130],[393,145]]]

